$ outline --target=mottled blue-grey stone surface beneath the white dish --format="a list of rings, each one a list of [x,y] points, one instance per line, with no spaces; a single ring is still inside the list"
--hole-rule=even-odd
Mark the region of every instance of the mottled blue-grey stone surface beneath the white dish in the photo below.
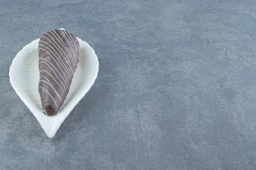
[[[255,0],[0,0],[1,170],[255,170]],[[9,82],[65,28],[99,58],[49,139]]]

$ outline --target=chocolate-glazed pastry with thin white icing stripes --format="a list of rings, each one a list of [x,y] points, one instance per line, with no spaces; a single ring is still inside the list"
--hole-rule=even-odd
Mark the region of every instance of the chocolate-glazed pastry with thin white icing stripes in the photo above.
[[[45,115],[56,115],[79,62],[79,42],[73,34],[55,29],[40,37],[38,52],[42,111]]]

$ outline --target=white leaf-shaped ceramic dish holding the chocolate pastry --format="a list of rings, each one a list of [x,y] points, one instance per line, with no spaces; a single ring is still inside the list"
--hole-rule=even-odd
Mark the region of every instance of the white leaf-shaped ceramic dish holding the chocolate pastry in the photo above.
[[[70,91],[57,115],[46,116],[41,112],[42,104],[38,92],[38,42],[27,44],[13,59],[10,66],[10,82],[22,102],[36,117],[46,135],[53,138],[65,118],[90,90],[99,71],[99,61],[92,47],[80,38],[79,63],[74,73]]]

